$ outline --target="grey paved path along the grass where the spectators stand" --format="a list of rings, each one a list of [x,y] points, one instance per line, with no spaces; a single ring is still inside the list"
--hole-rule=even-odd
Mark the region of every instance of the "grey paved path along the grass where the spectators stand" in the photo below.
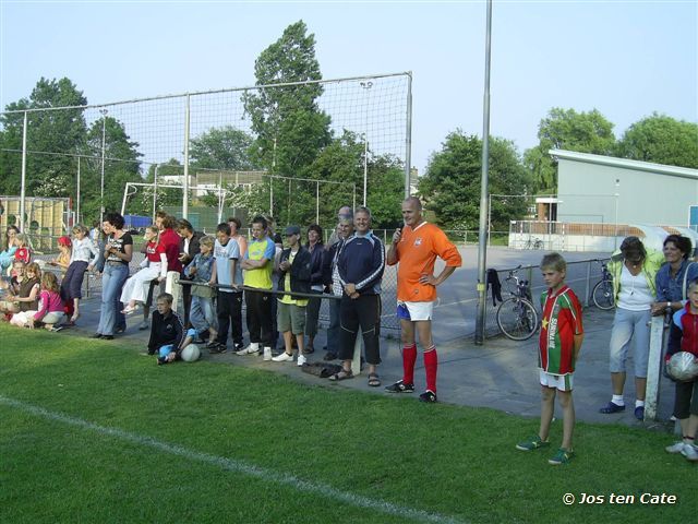
[[[83,301],[80,326],[67,329],[59,336],[88,336],[94,332],[99,315],[98,297]],[[444,308],[445,309],[445,308]],[[447,317],[446,310],[437,310],[437,314]],[[129,345],[145,348],[148,331],[139,331],[137,324],[142,317],[134,314],[128,320],[128,330],[118,335],[115,345]],[[454,320],[456,322],[457,320]],[[599,311],[594,308],[585,310],[586,337],[581,349],[580,361],[575,374],[575,408],[577,419],[589,422],[625,424],[630,426],[647,426],[672,428],[667,422],[673,403],[673,384],[664,380],[661,384],[659,407],[660,422],[638,422],[633,416],[634,384],[626,385],[625,413],[601,415],[598,409],[611,397],[609,365],[609,338],[613,312]],[[316,338],[316,347],[322,348],[325,338],[324,330]],[[436,338],[438,340],[438,333]],[[245,334],[245,342],[248,341]],[[522,343],[504,337],[491,338],[484,346],[476,346],[472,337],[455,337],[438,343],[438,397],[441,402],[491,407],[522,416],[538,417],[540,415],[540,388],[538,385],[538,370],[535,368],[537,338]],[[380,368],[384,385],[401,378],[400,344],[395,337],[382,340],[383,365]],[[322,350],[311,355],[310,361],[321,360]],[[282,372],[296,380],[311,384],[322,384],[330,388],[350,388],[374,394],[389,395],[383,388],[369,388],[365,376],[360,376],[341,383],[330,383],[326,379],[318,379],[301,372],[296,364],[264,362],[261,357],[239,357],[228,350],[225,355],[209,355],[202,350],[203,359],[233,366],[245,366],[255,369]],[[153,359],[155,366],[155,358]],[[178,364],[181,365],[181,364]],[[628,369],[633,369],[629,365]],[[424,388],[424,370],[421,356],[418,358],[416,370],[416,386],[419,391]],[[417,395],[414,395],[417,397]],[[416,398],[417,402],[417,398]],[[557,408],[556,416],[559,416]]]

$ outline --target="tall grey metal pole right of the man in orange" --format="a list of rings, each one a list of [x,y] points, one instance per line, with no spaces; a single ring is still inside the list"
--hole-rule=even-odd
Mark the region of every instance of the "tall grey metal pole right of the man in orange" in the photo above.
[[[492,0],[488,0],[488,29],[484,53],[484,96],[482,104],[482,175],[480,177],[480,228],[478,242],[478,314],[476,319],[476,344],[484,343],[485,305],[488,283],[486,219],[489,213],[489,174],[490,174],[490,62],[492,51]]]

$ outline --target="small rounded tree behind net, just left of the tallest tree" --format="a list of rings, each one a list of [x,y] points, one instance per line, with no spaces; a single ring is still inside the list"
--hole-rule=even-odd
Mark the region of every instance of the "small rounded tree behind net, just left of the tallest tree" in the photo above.
[[[212,129],[191,141],[190,169],[252,170],[255,168],[250,159],[252,142],[252,136],[231,126]]]

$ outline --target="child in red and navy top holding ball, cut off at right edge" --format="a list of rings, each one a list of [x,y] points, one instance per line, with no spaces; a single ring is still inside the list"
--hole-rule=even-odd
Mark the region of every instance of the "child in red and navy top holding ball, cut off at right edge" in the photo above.
[[[674,324],[682,331],[682,352],[698,358],[698,279],[688,285],[688,302],[674,313]],[[672,355],[667,353],[666,360]],[[698,377],[687,382],[676,382],[674,417],[681,425],[683,439],[665,448],[669,453],[681,453],[691,462],[698,462]]]

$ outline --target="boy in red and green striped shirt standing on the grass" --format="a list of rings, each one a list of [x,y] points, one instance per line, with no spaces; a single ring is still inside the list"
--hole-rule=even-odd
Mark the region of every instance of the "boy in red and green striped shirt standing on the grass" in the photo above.
[[[541,335],[538,367],[541,382],[541,426],[539,433],[516,444],[517,450],[533,451],[550,446],[550,425],[555,410],[555,396],[563,408],[563,443],[547,462],[567,464],[574,456],[571,436],[575,428],[575,406],[571,398],[573,374],[583,340],[581,306],[575,293],[565,284],[567,263],[558,253],[541,261],[547,290],[541,295]]]

